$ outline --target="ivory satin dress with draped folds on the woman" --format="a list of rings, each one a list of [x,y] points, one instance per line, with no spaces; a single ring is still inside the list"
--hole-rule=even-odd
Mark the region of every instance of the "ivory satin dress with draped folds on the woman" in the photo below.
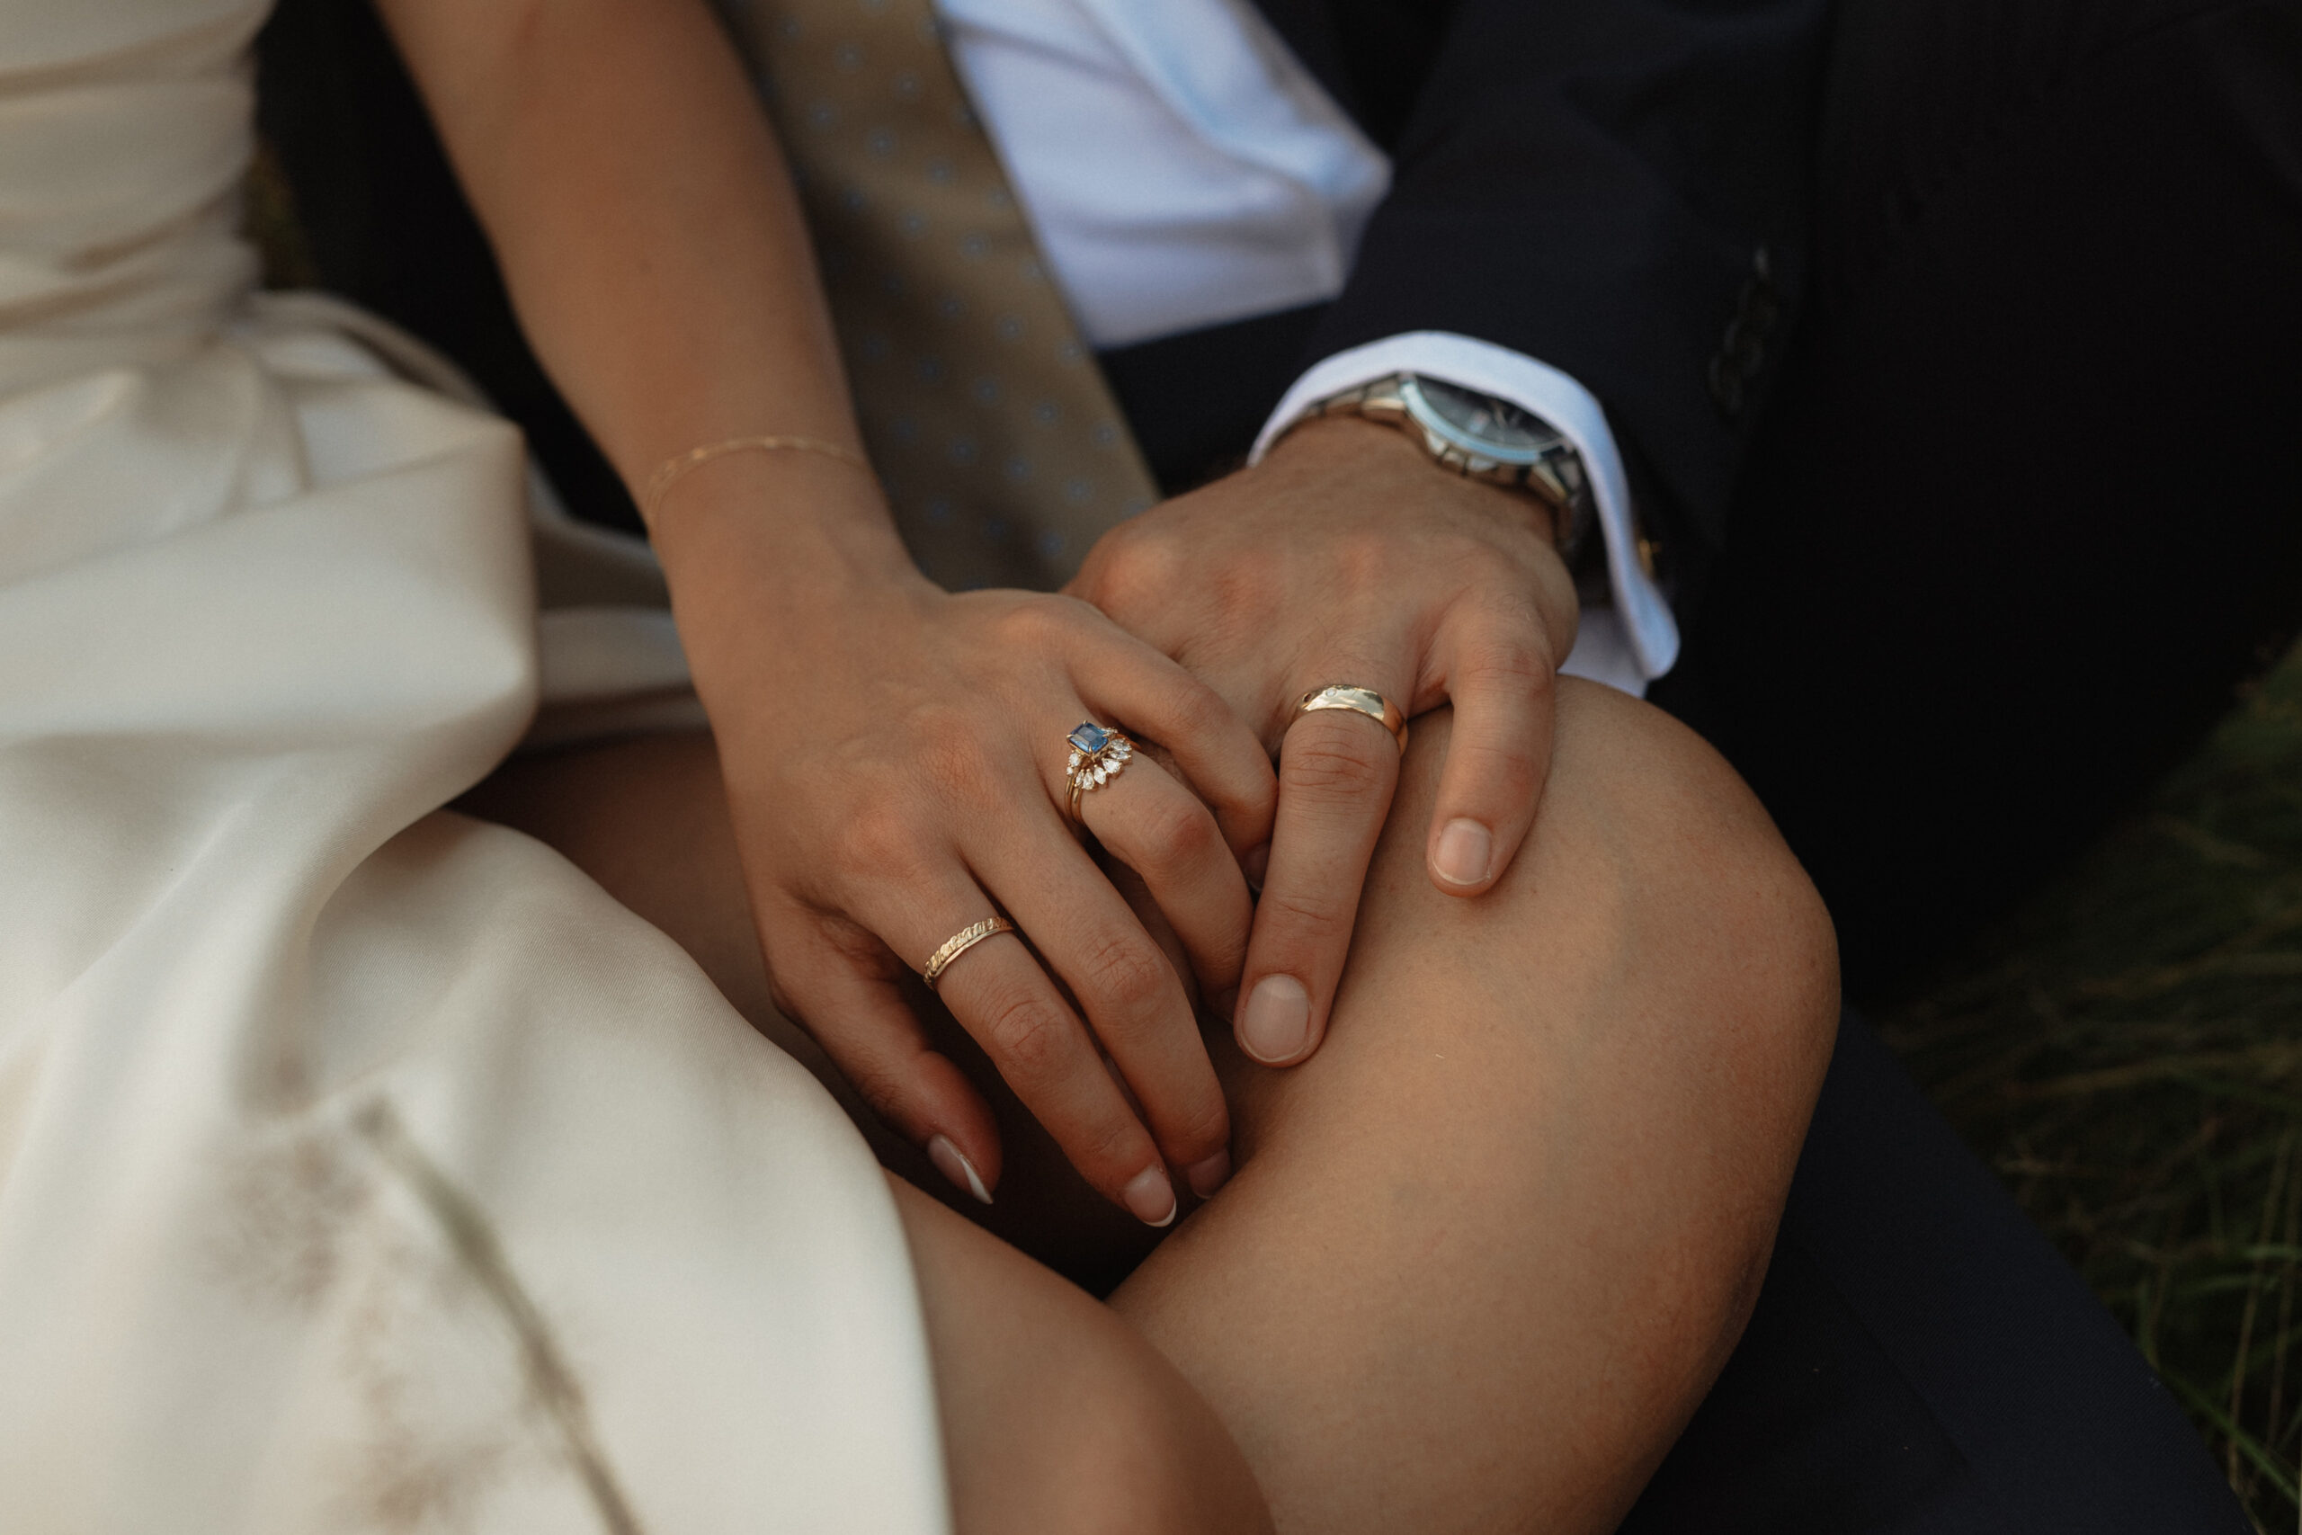
[[[640,545],[253,292],[265,9],[0,0],[0,1530],[948,1528],[863,1139],[440,810],[693,697]]]

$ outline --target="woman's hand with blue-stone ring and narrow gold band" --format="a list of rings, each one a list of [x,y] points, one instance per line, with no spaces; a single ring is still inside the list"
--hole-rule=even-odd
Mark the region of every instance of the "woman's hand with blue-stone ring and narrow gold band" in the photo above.
[[[1211,1192],[1229,1116],[1181,976],[1068,824],[1066,734],[1096,720],[1158,741],[1188,778],[1137,753],[1080,810],[1142,875],[1209,994],[1234,990],[1245,957],[1238,856],[1268,840],[1275,803],[1264,748],[1211,688],[1082,601],[946,594],[877,518],[760,536],[746,499],[769,486],[877,495],[849,467],[730,469],[681,490],[668,562],[776,1003],[882,1118],[988,1197],[992,1114],[928,1047],[902,978],[1006,914],[1020,937],[953,960],[942,1001],[1080,1174],[1165,1224],[1167,1167]]]

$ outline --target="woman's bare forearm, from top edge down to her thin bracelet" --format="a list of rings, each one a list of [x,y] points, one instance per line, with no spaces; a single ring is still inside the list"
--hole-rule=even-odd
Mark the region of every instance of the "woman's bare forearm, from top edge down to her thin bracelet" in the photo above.
[[[382,0],[536,357],[628,486],[698,442],[861,449],[783,159],[681,0]],[[824,509],[829,513],[829,509]],[[872,497],[794,516],[905,568]],[[658,529],[677,543],[677,527]]]

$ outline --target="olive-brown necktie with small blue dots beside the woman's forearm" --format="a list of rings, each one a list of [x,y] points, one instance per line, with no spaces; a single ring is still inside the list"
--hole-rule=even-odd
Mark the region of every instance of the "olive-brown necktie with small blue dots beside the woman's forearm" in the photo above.
[[[799,182],[872,467],[937,582],[1052,589],[1158,490],[928,0],[723,0]]]

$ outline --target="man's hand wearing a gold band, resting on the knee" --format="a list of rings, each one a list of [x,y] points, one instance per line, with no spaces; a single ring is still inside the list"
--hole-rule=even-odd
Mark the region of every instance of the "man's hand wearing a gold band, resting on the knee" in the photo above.
[[[1310,421],[1261,465],[1116,527],[1068,589],[1211,684],[1280,762],[1238,999],[1213,1001],[1250,1056],[1301,1061],[1326,1031],[1400,748],[1379,720],[1296,702],[1354,684],[1409,716],[1453,704],[1425,865],[1450,895],[1487,891],[1533,824],[1552,677],[1575,642],[1549,513],[1388,426]]]

